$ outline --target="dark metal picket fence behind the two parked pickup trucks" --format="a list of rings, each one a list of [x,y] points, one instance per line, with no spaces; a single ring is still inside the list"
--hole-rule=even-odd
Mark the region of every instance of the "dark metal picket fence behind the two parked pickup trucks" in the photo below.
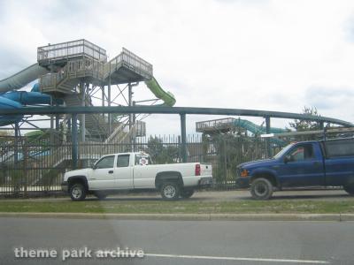
[[[138,137],[119,143],[82,142],[79,168],[95,163],[102,155],[144,151],[154,163],[181,163],[181,137]],[[255,137],[218,135],[187,138],[188,162],[211,163],[214,188],[235,186],[239,163],[265,158],[266,141]],[[72,145],[53,137],[0,137],[0,195],[33,196],[60,193],[65,171],[73,170]]]

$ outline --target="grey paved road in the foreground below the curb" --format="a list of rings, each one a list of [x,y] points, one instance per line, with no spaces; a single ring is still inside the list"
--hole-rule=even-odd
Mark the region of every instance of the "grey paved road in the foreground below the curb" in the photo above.
[[[147,256],[99,264],[353,264],[353,222],[196,222],[0,218],[1,264],[61,261],[62,251],[139,248]],[[15,259],[14,247],[55,249],[53,259]],[[92,254],[93,255],[93,254]]]

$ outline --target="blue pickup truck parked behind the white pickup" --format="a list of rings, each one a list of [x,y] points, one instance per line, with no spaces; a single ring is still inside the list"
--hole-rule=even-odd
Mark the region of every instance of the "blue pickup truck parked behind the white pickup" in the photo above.
[[[292,143],[272,159],[238,165],[236,175],[255,200],[292,187],[342,186],[354,195],[354,138]]]

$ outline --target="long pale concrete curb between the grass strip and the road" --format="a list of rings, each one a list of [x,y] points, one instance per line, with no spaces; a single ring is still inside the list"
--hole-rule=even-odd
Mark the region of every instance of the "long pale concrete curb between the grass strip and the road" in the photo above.
[[[170,220],[170,221],[354,221],[354,214],[91,214],[0,213],[0,217]]]

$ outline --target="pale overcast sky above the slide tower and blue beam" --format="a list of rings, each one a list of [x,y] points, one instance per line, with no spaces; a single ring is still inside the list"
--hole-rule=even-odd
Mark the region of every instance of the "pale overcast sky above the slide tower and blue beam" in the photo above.
[[[354,1],[0,0],[0,32],[0,79],[34,64],[38,46],[85,38],[149,61],[176,106],[306,105],[354,122]],[[135,100],[150,97],[135,87]],[[188,117],[189,133],[205,118]],[[176,116],[147,122],[149,133],[179,132]]]

